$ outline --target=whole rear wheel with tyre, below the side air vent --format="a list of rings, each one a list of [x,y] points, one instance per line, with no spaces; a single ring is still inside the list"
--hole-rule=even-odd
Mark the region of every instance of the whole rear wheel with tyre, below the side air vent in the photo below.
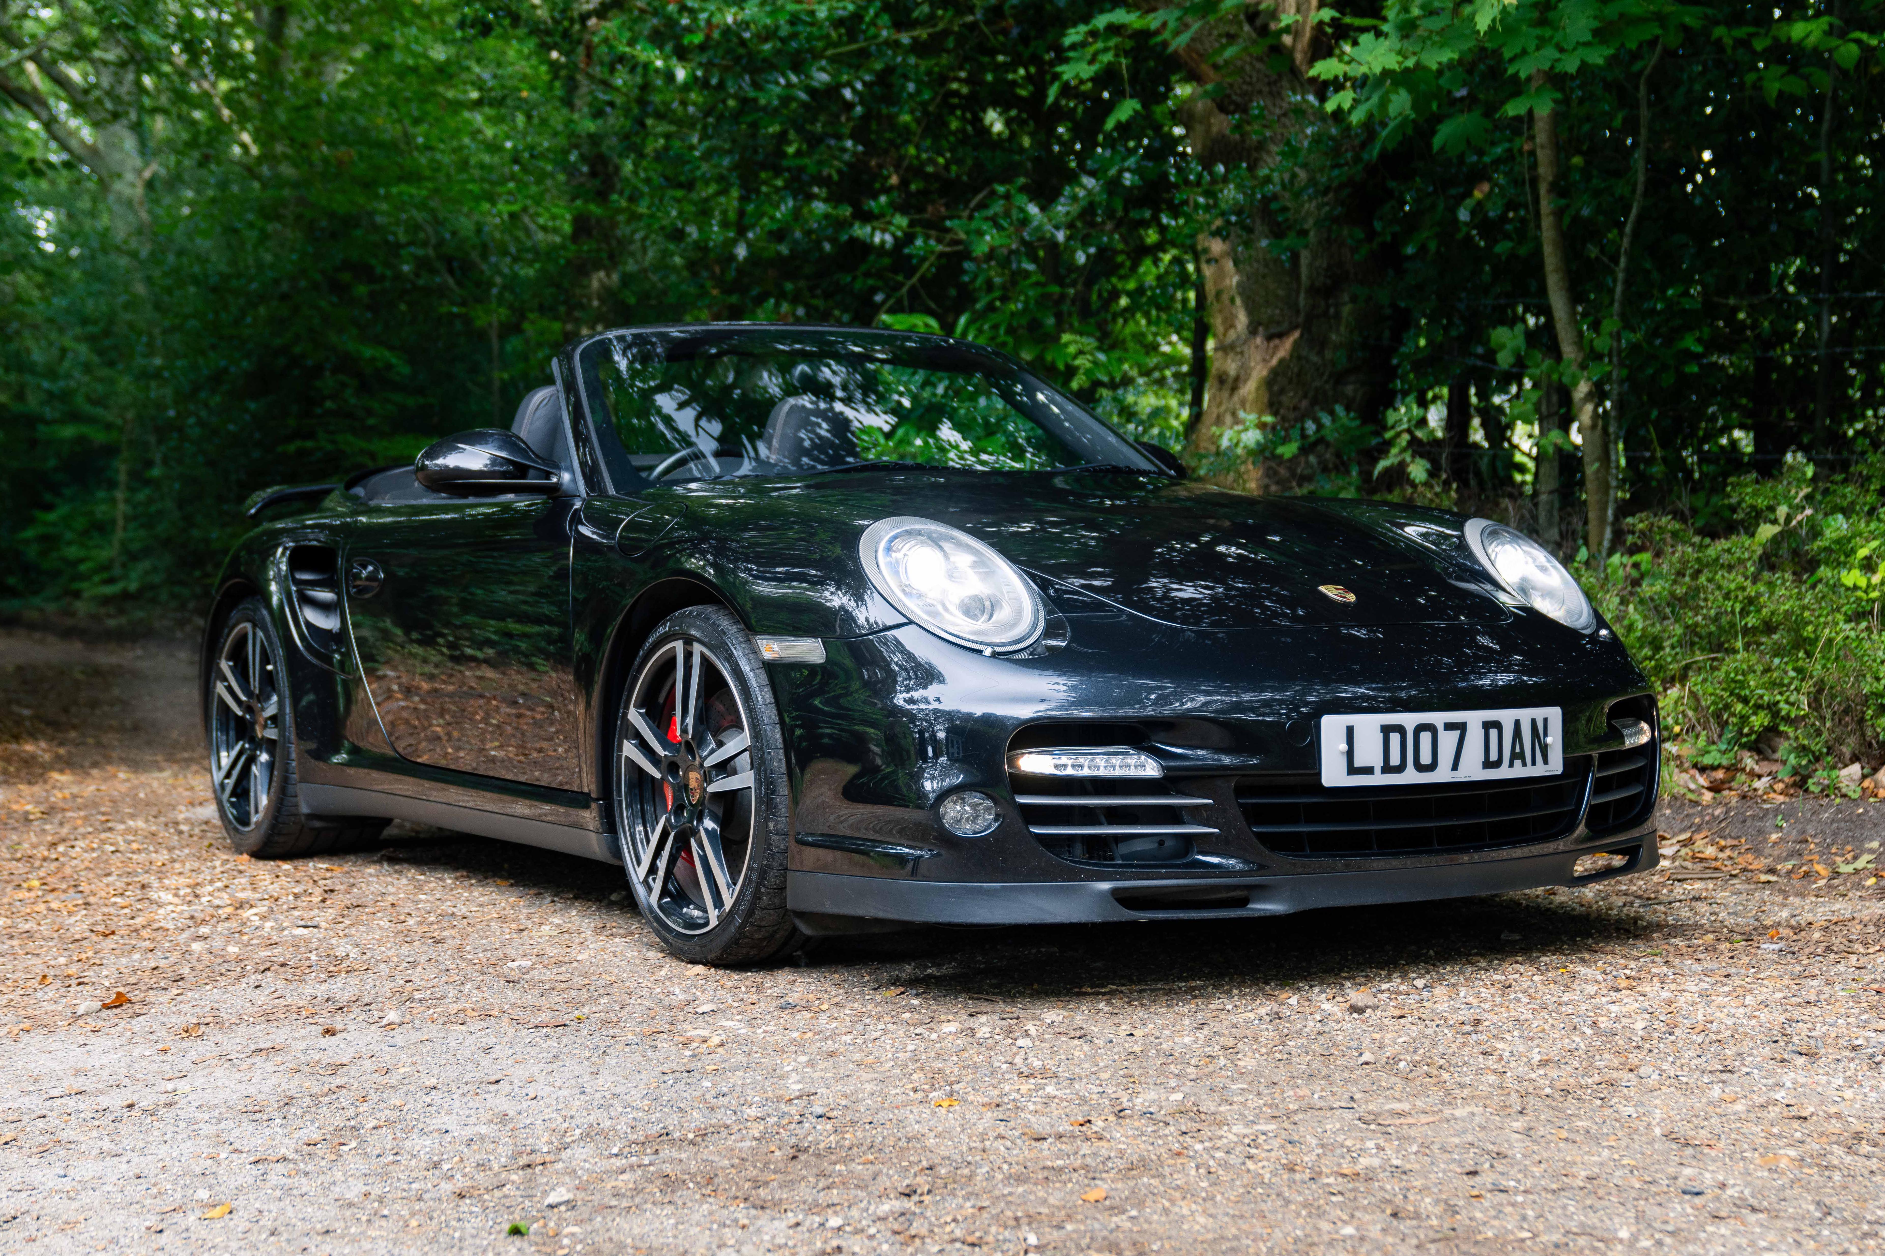
[[[260,597],[222,621],[204,684],[209,785],[230,849],[256,859],[332,855],[379,838],[385,819],[302,815],[287,655]]]

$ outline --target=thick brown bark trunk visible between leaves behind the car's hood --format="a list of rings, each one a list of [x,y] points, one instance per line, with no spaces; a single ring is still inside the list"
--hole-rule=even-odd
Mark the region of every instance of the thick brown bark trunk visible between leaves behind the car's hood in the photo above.
[[[1272,171],[1284,141],[1304,132],[1316,111],[1306,77],[1316,8],[1318,0],[1248,6],[1205,23],[1176,49],[1199,87],[1220,89],[1212,98],[1193,94],[1180,107],[1201,164]],[[1280,17],[1299,21],[1278,34]],[[1287,58],[1274,56],[1278,40]],[[1231,45],[1250,51],[1214,60]],[[1231,121],[1246,115],[1261,126],[1233,130]],[[1385,313],[1361,296],[1374,267],[1353,243],[1367,237],[1357,228],[1369,213],[1359,201],[1321,196],[1284,188],[1265,198],[1267,209],[1214,222],[1197,237],[1212,350],[1205,403],[1186,435],[1195,454],[1216,454],[1223,435],[1244,420],[1295,424],[1335,411],[1370,418],[1385,403],[1385,354],[1370,345],[1380,339]],[[1272,220],[1270,213],[1287,220]],[[1282,252],[1276,241],[1284,237],[1303,243]],[[1259,463],[1214,478],[1246,491],[1265,488]]]

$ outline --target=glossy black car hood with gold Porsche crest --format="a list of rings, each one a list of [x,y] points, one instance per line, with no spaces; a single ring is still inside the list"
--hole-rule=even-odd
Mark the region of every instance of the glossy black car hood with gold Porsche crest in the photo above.
[[[1463,518],[1416,507],[1252,497],[1150,476],[988,471],[714,480],[677,495],[692,520],[722,535],[752,527],[803,537],[803,523],[814,523],[814,548],[848,546],[852,556],[858,535],[880,518],[939,520],[1033,572],[1065,614],[1123,608],[1197,629],[1510,616],[1461,546]],[[713,527],[713,516],[729,518]]]

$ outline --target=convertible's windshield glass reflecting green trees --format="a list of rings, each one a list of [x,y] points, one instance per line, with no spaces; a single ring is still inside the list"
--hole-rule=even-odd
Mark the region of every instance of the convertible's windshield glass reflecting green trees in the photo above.
[[[995,354],[895,331],[690,328],[581,348],[616,490],[880,463],[1157,473],[1076,401]]]

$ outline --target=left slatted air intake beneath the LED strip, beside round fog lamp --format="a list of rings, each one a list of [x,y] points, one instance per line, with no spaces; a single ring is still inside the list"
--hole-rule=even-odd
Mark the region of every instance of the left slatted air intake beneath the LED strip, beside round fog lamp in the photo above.
[[[1014,802],[1050,855],[1091,864],[1167,864],[1191,859],[1193,838],[1218,830],[1188,819],[1199,798],[1163,780],[1059,780],[1014,774]]]

